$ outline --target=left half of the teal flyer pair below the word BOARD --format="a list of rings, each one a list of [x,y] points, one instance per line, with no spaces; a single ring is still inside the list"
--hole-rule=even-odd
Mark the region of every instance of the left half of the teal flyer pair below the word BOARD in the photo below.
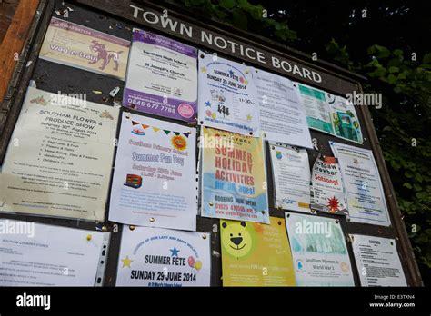
[[[334,134],[331,112],[326,100],[325,91],[306,84],[296,83],[300,103],[306,111],[308,127],[316,131]]]

